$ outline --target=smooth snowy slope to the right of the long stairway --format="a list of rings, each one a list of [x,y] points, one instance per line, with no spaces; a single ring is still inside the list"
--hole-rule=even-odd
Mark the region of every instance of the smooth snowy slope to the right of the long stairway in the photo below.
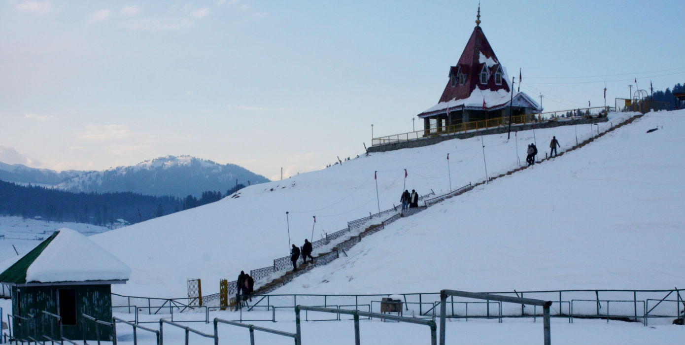
[[[274,293],[684,286],[684,116],[649,114],[394,222]]]

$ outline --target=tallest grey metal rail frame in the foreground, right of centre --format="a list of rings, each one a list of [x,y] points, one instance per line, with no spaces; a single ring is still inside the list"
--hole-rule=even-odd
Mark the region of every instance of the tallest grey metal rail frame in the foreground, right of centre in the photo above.
[[[509,302],[521,305],[539,305],[540,307],[543,307],[543,333],[545,337],[545,345],[550,344],[551,332],[549,329],[549,307],[552,304],[551,301],[543,301],[533,298],[501,296],[495,294],[481,294],[477,292],[442,290],[440,291],[440,345],[445,345],[445,318],[447,318],[447,296],[460,296],[465,298],[475,298],[486,301]]]

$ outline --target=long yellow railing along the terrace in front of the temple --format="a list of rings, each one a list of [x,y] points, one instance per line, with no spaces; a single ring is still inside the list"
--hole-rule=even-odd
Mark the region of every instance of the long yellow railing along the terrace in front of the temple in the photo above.
[[[612,107],[589,107],[577,108],[574,110],[561,110],[558,112],[543,112],[541,114],[528,114],[512,116],[512,125],[526,124],[526,123],[541,123],[547,121],[567,121],[576,120],[578,118],[588,118],[597,116],[606,116],[606,113]],[[509,125],[509,116],[500,118],[490,118],[488,120],[471,121],[467,123],[458,123],[456,125],[449,125],[438,127],[431,125],[428,129],[421,129],[419,131],[410,131],[407,133],[393,134],[392,136],[382,136],[373,138],[372,146],[390,144],[395,142],[406,142],[410,140],[419,140],[422,138],[433,138],[436,136],[443,136],[446,134],[465,133],[467,131],[479,131],[481,129],[488,129],[494,127],[501,127]]]

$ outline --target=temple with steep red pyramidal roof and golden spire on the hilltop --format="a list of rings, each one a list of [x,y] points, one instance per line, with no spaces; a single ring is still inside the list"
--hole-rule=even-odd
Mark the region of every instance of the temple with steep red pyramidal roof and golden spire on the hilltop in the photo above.
[[[480,27],[476,26],[456,66],[449,68],[449,81],[438,104],[419,114],[426,131],[451,131],[450,127],[472,121],[542,112],[525,92],[515,92],[506,68],[501,65]],[[513,95],[512,95],[512,92]]]

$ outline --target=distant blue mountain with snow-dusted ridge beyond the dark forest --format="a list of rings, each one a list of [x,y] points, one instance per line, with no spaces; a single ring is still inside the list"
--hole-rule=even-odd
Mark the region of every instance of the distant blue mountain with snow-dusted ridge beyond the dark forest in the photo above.
[[[155,196],[199,197],[208,190],[225,193],[235,188],[236,180],[245,186],[269,181],[235,164],[217,164],[188,155],[168,155],[135,166],[86,172],[55,188],[69,192],[134,192]]]

